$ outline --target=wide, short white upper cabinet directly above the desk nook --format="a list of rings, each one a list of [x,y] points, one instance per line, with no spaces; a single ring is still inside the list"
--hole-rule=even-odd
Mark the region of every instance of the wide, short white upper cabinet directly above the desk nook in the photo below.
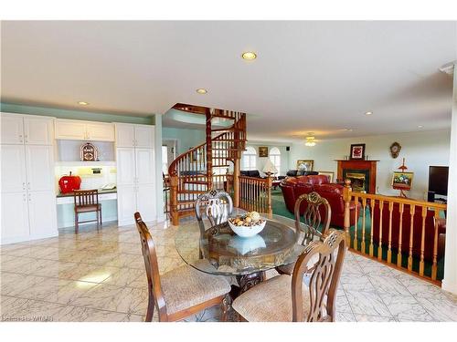
[[[112,123],[56,119],[56,139],[114,141]]]

